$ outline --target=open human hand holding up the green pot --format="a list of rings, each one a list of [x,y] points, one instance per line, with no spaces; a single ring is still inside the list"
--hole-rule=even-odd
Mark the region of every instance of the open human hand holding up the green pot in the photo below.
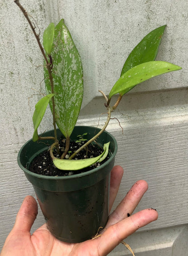
[[[118,193],[122,174],[122,167],[115,166],[112,169],[110,209]],[[138,228],[157,219],[158,213],[152,209],[145,209],[131,215],[147,188],[146,181],[137,181],[109,216],[101,236],[75,244],[57,240],[48,231],[46,224],[31,235],[30,229],[37,217],[38,205],[32,196],[27,196],[19,209],[14,227],[5,241],[0,256],[106,256]],[[129,214],[130,217],[128,217]]]

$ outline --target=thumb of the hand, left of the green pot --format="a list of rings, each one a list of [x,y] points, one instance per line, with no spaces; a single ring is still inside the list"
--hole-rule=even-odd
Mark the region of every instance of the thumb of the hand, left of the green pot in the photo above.
[[[27,196],[19,209],[16,216],[16,221],[12,231],[28,231],[30,232],[31,227],[38,214],[38,205],[36,200],[32,196]]]

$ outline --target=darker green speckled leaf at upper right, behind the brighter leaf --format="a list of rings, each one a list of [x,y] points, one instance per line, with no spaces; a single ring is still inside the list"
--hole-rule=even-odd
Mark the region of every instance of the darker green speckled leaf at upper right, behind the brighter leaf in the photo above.
[[[130,68],[155,60],[165,27],[166,25],[152,30],[136,45],[122,68],[121,76]]]

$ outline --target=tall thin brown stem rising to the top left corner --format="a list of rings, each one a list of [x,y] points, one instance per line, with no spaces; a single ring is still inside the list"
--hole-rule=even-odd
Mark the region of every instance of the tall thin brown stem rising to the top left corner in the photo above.
[[[26,10],[24,9],[24,7],[19,3],[19,0],[14,0],[14,2],[16,3],[16,5],[19,6],[20,10],[23,12],[25,18],[27,19],[32,31],[33,31],[33,34],[35,36],[35,38],[37,39],[37,42],[38,42],[38,45],[39,45],[39,48],[41,50],[41,53],[45,59],[45,62],[47,64],[47,71],[48,71],[48,74],[49,74],[49,78],[50,78],[50,84],[51,84],[51,91],[52,93],[54,93],[54,84],[53,84],[53,77],[52,77],[52,62],[48,61],[47,59],[47,56],[44,52],[44,49],[42,47],[42,44],[40,42],[40,38],[39,38],[39,35],[36,33],[35,31],[35,27],[33,26],[31,20],[29,19],[28,17],[28,14],[26,12]],[[49,56],[50,60],[52,59],[51,56]],[[53,127],[54,127],[54,137],[55,137],[55,141],[57,142],[57,132],[56,132],[56,115],[55,115],[55,100],[54,100],[54,96],[52,97],[52,115],[53,115]]]

